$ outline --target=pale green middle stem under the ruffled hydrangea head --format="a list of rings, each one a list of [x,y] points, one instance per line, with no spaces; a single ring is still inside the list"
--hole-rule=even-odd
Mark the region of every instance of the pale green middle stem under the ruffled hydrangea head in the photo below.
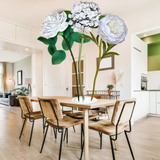
[[[81,41],[81,48],[80,48],[79,61],[78,61],[78,71],[79,71],[80,89],[81,89],[81,94],[82,94],[82,98],[83,98],[83,101],[84,101],[84,94],[83,94],[83,87],[82,87],[82,77],[81,77],[81,55],[82,55],[83,41],[84,41],[84,38],[82,38],[82,41]]]

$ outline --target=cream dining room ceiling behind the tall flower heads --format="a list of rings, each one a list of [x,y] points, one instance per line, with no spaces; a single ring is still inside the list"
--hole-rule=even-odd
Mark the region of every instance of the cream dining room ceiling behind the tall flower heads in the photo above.
[[[27,26],[37,31],[46,15],[71,10],[78,0],[0,0],[0,18]],[[90,0],[92,1],[92,0]],[[159,0],[93,0],[102,14],[123,15],[134,12]]]

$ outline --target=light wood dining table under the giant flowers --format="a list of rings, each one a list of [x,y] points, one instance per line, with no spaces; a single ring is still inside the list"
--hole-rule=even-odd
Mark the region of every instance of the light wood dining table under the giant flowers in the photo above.
[[[64,107],[76,107],[83,109],[84,112],[84,159],[89,160],[89,130],[88,130],[88,110],[106,107],[108,111],[109,118],[113,113],[113,106],[115,105],[116,100],[111,99],[97,99],[95,103],[92,104],[78,104],[72,102],[73,97],[67,96],[40,96],[40,97],[30,97],[32,102],[38,102],[38,98],[46,99],[57,99],[61,106]]]

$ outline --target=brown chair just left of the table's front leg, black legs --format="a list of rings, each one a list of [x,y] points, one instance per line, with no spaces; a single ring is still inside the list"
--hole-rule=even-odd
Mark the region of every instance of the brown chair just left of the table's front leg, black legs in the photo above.
[[[39,98],[39,104],[42,110],[42,114],[44,117],[47,117],[46,120],[46,131],[44,135],[44,139],[42,142],[40,153],[42,153],[43,146],[45,143],[46,135],[48,132],[49,126],[56,128],[59,133],[61,133],[61,141],[60,141],[60,149],[59,149],[59,160],[61,159],[61,151],[62,151],[62,141],[63,141],[63,132],[64,129],[69,127],[73,127],[76,125],[81,124],[83,128],[83,120],[74,119],[68,116],[63,116],[60,104],[57,99],[46,99],[46,98]],[[81,146],[82,148],[82,146]]]

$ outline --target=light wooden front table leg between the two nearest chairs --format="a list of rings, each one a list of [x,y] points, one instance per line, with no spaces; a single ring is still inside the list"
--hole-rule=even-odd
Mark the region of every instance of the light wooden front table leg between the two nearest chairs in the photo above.
[[[84,159],[89,159],[88,109],[84,109]]]

